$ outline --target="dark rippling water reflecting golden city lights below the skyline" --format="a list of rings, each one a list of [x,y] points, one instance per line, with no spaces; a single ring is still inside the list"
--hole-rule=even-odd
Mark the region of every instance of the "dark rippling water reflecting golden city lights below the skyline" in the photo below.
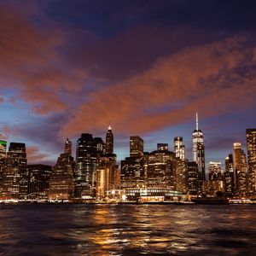
[[[256,206],[0,205],[0,255],[256,255]]]

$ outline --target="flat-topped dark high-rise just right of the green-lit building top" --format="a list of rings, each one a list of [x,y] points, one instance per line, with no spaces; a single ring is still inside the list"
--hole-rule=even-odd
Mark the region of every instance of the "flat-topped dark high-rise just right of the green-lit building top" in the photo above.
[[[2,167],[0,198],[19,199],[20,167],[26,165],[25,143],[10,143]]]

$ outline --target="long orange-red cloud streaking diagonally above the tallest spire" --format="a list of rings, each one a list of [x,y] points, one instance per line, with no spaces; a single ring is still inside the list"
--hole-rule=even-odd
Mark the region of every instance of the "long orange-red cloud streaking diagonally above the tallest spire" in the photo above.
[[[162,58],[144,73],[90,93],[61,132],[103,129],[109,120],[116,130],[145,132],[191,119],[196,110],[212,115],[243,108],[256,91],[253,73],[249,79],[239,73],[255,65],[254,49],[246,46],[246,38],[236,37]]]

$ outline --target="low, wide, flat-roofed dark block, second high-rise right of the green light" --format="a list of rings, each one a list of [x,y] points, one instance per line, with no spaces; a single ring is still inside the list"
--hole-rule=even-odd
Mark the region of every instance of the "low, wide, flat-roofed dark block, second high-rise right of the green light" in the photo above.
[[[47,200],[51,172],[51,166],[21,166],[20,200]]]

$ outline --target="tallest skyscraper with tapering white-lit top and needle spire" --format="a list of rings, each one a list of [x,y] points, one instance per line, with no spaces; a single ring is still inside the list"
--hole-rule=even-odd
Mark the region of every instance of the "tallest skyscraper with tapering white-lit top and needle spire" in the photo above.
[[[202,187],[202,183],[206,180],[205,166],[205,146],[203,142],[203,132],[198,128],[198,115],[196,113],[196,127],[192,133],[193,138],[193,160],[198,165],[198,186]]]

